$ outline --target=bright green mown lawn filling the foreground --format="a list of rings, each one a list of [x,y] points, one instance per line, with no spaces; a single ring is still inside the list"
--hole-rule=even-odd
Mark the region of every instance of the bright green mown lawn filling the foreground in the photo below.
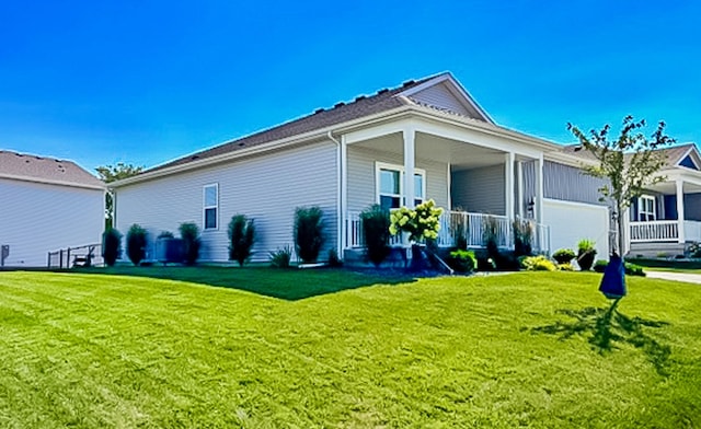
[[[354,276],[303,276],[317,275]],[[629,278],[608,317],[599,278],[438,278],[283,300],[0,273],[0,427],[701,425],[701,287]]]

